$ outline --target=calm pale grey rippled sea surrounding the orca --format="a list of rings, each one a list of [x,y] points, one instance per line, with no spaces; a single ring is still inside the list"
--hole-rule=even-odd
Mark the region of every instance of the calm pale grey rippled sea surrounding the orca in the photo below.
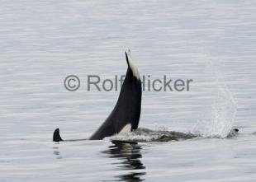
[[[254,0],[0,2],[1,182],[256,180]],[[52,142],[55,128],[88,138],[107,118],[119,92],[88,92],[87,76],[125,74],[125,49],[141,75],[193,79],[145,91],[140,128],[202,137]]]

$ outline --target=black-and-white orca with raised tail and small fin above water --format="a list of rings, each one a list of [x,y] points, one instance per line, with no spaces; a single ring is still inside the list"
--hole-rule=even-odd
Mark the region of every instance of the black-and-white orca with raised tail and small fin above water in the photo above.
[[[116,106],[105,122],[88,138],[89,140],[101,140],[117,133],[129,133],[138,128],[142,86],[140,72],[135,64],[132,63],[130,50],[126,52],[126,63],[128,65],[126,78],[121,86]],[[53,141],[64,141],[59,135],[59,128],[55,129]]]

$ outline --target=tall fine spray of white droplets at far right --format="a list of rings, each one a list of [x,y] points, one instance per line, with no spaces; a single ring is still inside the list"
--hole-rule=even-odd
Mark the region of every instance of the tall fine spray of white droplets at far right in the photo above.
[[[204,111],[201,119],[197,121],[192,133],[202,137],[225,138],[233,127],[237,111],[237,101],[233,93],[226,86],[218,70],[210,63],[216,74],[217,96],[211,105],[211,110]]]

